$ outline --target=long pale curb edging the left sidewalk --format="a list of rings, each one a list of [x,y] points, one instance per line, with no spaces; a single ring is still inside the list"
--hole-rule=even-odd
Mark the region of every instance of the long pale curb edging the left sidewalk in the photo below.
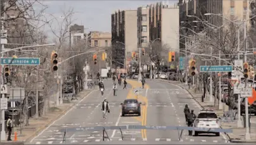
[[[93,90],[89,90],[89,92],[87,94],[89,94],[90,92],[92,92]],[[86,94],[86,95],[87,95]],[[23,140],[23,142],[27,142],[27,141],[30,141],[30,139],[32,139],[32,137],[35,137],[37,134],[39,134],[39,132],[41,132],[42,130],[44,130],[46,127],[48,127],[51,122],[53,122],[54,120],[56,120],[57,118],[60,118],[61,116],[63,116],[67,110],[70,110],[70,108],[72,108],[73,106],[75,105],[75,103],[73,103],[71,106],[69,106],[68,108],[65,108],[65,110],[63,110],[60,115],[58,115],[58,117],[54,118],[54,119],[51,119],[49,120],[46,125],[40,127],[39,129],[35,130],[34,134],[31,134],[27,139],[25,139],[25,141]]]

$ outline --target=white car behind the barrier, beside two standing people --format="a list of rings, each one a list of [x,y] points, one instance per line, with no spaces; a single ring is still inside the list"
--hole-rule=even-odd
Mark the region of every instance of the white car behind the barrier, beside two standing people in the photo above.
[[[220,128],[220,121],[217,117],[217,114],[212,110],[201,110],[195,120],[195,127],[203,127],[203,128]],[[195,131],[195,136],[201,133],[210,133],[215,134],[216,136],[220,136],[219,132],[198,132]]]

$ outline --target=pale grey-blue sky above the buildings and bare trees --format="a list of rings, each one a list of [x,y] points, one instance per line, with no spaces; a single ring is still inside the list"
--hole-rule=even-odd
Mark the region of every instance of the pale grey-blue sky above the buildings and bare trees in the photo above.
[[[88,28],[86,32],[94,30],[111,32],[111,14],[116,10],[137,9],[139,6],[146,6],[147,4],[153,4],[160,1],[42,0],[40,2],[48,7],[45,9],[44,13],[50,13],[56,18],[60,18],[63,11],[74,8],[74,24],[84,25],[84,28]],[[174,3],[177,3],[177,0],[165,0],[163,2],[173,5]],[[41,4],[35,4],[35,9],[40,11],[40,9],[42,9]],[[53,25],[56,25],[54,28],[56,28],[57,31],[57,22],[54,22]],[[51,31],[47,25],[42,28],[44,28],[48,35],[53,35],[50,34]]]

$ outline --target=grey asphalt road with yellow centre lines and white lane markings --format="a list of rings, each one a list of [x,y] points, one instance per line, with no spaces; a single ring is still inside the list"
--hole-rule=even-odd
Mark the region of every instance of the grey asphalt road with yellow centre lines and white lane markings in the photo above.
[[[136,81],[129,81],[127,89],[118,86],[117,96],[113,96],[112,81],[105,80],[105,94],[101,97],[99,90],[88,94],[66,115],[53,122],[46,130],[36,136],[27,144],[62,144],[63,132],[61,129],[74,127],[96,126],[122,126],[122,125],[154,125],[154,126],[186,126],[183,109],[188,104],[195,113],[200,111],[200,106],[182,88],[146,80],[146,88],[141,89],[138,96],[141,101],[141,117],[121,117],[120,103],[126,98],[134,98],[132,89],[140,85]],[[110,103],[110,113],[106,119],[102,117],[101,103],[107,98]],[[188,136],[185,131],[182,141],[179,141],[177,130],[122,130],[124,140],[121,139],[120,130],[106,130],[110,140],[103,142],[102,131],[76,131],[67,132],[66,144],[223,144],[225,137],[215,137],[214,134],[201,136]],[[230,143],[229,143],[230,144]]]

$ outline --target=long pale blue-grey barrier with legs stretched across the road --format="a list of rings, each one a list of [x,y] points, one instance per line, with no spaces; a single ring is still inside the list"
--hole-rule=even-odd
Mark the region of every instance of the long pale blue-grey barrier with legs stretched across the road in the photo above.
[[[146,129],[146,130],[177,130],[179,141],[182,140],[182,132],[183,130],[191,130],[191,131],[199,131],[199,132],[224,132],[232,133],[232,129],[221,129],[221,128],[203,128],[203,127],[181,127],[181,126],[143,126],[143,125],[126,125],[126,126],[106,126],[106,127],[75,127],[75,128],[66,128],[61,129],[60,132],[64,132],[63,142],[65,141],[65,137],[67,132],[84,132],[84,131],[103,131],[103,141],[105,138],[110,140],[106,130],[120,130],[122,140],[124,140],[124,136],[122,134],[122,130],[125,129]],[[105,136],[106,134],[106,136]],[[227,136],[227,142],[229,141],[229,137]]]

